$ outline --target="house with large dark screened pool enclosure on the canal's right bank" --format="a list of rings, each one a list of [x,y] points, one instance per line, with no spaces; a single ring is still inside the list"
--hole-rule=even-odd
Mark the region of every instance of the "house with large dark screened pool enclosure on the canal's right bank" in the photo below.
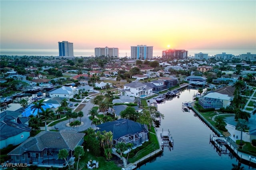
[[[227,106],[229,106],[230,101],[231,97],[227,94],[213,92],[199,98],[198,104],[200,104],[200,106],[202,106],[203,108],[220,109],[222,107],[226,108]]]

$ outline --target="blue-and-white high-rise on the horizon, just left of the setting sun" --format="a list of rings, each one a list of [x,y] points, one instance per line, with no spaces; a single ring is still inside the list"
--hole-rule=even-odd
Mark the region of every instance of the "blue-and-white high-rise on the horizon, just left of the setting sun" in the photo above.
[[[131,58],[132,59],[152,59],[153,46],[137,45],[131,46]]]

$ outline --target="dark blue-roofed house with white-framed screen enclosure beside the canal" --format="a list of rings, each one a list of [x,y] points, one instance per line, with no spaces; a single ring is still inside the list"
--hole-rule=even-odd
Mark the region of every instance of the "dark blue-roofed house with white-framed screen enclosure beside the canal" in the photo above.
[[[148,141],[148,126],[129,119],[118,119],[97,125],[98,131],[111,131],[113,133],[113,147],[120,142],[132,143],[136,148]]]

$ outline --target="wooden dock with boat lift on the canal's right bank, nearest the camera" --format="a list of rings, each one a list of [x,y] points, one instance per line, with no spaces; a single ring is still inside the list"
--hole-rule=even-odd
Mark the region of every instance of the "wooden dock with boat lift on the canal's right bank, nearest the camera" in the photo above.
[[[210,143],[216,148],[216,152],[221,156],[222,154],[228,154],[230,156],[230,151],[227,149],[229,143],[227,142],[226,138],[224,137],[216,137],[210,135]]]

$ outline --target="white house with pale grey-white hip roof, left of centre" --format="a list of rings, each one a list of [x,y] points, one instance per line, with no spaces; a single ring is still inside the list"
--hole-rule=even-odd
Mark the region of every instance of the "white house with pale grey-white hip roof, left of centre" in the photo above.
[[[78,90],[73,87],[62,86],[56,90],[52,90],[49,92],[51,98],[53,97],[62,97],[62,98],[74,98],[74,96],[78,94]]]

